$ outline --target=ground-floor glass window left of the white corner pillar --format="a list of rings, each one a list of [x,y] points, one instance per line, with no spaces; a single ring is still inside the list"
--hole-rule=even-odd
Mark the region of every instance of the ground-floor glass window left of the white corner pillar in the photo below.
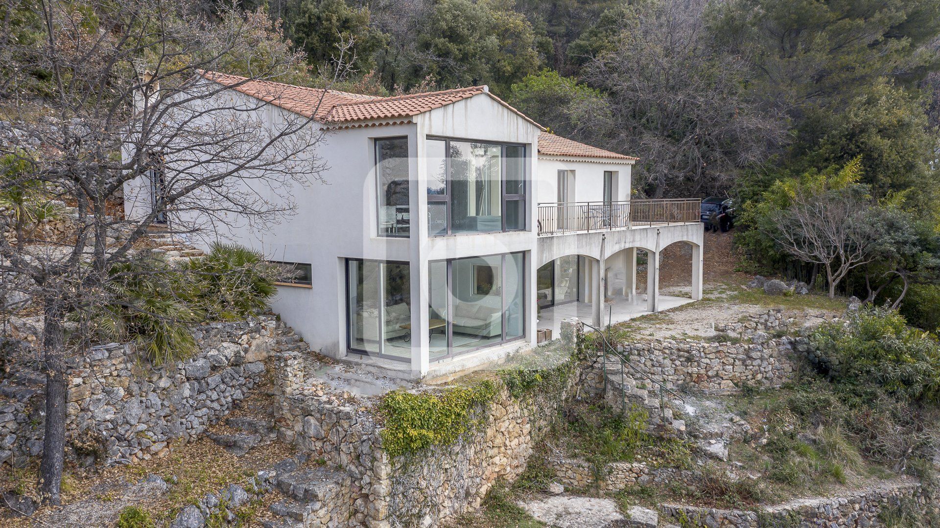
[[[408,264],[347,260],[349,349],[411,359],[411,271]]]

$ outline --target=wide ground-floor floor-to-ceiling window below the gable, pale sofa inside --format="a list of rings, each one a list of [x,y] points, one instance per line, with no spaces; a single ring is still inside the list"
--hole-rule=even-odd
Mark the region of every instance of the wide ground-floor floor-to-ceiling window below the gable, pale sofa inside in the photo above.
[[[431,361],[525,335],[525,256],[431,262]]]

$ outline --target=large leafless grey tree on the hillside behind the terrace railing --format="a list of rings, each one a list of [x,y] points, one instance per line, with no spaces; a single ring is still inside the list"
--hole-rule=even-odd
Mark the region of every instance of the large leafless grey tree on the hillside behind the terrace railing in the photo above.
[[[746,90],[748,63],[711,40],[705,4],[644,5],[616,49],[586,67],[588,83],[610,94],[616,132],[608,146],[643,153],[636,172],[653,197],[714,192],[785,140],[780,109]]]

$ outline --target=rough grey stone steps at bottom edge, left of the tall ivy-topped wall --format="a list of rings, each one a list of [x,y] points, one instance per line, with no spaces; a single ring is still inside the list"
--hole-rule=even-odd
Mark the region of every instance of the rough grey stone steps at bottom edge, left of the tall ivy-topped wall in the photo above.
[[[335,469],[301,468],[294,459],[275,464],[274,487],[284,495],[271,505],[264,528],[337,528],[349,523],[350,475]]]

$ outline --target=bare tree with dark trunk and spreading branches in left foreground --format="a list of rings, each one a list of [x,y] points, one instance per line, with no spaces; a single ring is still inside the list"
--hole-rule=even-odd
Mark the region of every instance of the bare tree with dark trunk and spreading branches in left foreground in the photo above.
[[[39,34],[22,39],[16,32],[23,26],[0,28],[0,104],[10,119],[0,155],[15,162],[3,167],[17,167],[0,168],[0,192],[40,186],[42,200],[77,211],[65,236],[0,237],[0,272],[15,279],[5,287],[35,299],[43,317],[39,488],[57,504],[67,361],[81,357],[91,339],[82,326],[72,331],[68,319],[106,303],[143,309],[109,284],[116,266],[139,260],[154,229],[223,232],[231,222],[266,225],[290,214],[291,187],[319,179],[324,168],[316,155],[322,132],[311,124],[316,110],[269,120],[266,103],[229,90],[277,79],[300,58],[283,42],[259,41],[250,16],[229,11],[210,21],[194,14],[192,0],[0,1]],[[206,71],[219,68],[245,77],[216,83]],[[152,187],[156,199],[125,217],[115,202],[129,182]],[[0,215],[0,233],[13,221]]]

